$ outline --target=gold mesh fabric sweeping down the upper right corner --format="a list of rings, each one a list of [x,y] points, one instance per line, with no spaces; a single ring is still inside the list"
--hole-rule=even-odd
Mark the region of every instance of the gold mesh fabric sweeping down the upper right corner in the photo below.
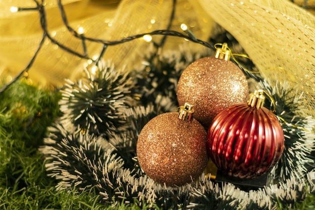
[[[315,17],[284,0],[200,0],[208,14],[244,47],[270,81],[303,92],[305,114],[315,107]]]

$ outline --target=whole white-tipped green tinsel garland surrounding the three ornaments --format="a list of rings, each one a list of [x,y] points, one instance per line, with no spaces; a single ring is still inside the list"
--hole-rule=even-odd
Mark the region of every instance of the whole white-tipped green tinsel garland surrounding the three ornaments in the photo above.
[[[131,77],[133,83],[128,82],[130,78],[126,75],[116,75],[118,73],[111,64],[104,61],[98,65],[99,73],[93,76],[93,80],[91,74],[87,74],[90,84],[86,86],[90,88],[68,82],[67,90],[63,92],[66,97],[61,101],[63,110],[67,112],[50,128],[45,146],[41,148],[49,176],[59,180],[58,189],[75,187],[81,190],[94,186],[99,191],[100,202],[108,205],[134,203],[136,199],[139,206],[145,202],[150,207],[165,209],[276,209],[278,205],[290,207],[303,200],[306,192],[315,192],[315,172],[312,170],[315,166],[314,120],[301,117],[301,96],[288,97],[293,88],[286,84],[271,87],[266,80],[255,86],[268,93],[268,108],[275,109],[285,134],[285,150],[281,161],[269,175],[268,186],[246,191],[231,183],[215,182],[209,174],[202,174],[194,182],[181,187],[166,187],[148,178],[137,161],[137,136],[152,117],[176,105],[176,81],[185,66],[199,56],[187,56],[190,54],[188,50],[186,54],[177,50],[167,53],[144,60],[142,74]],[[173,59],[161,59],[163,57]],[[139,73],[141,69],[135,72]],[[122,79],[111,80],[111,85],[108,85],[104,75]],[[125,84],[128,84],[127,88]],[[109,90],[106,89],[109,86],[116,87],[112,93],[120,97],[111,101],[115,94],[101,91]],[[132,92],[128,89],[140,94],[139,105],[128,105],[132,104],[126,100]],[[95,90],[93,97],[90,97],[91,90]],[[128,105],[124,109],[111,109],[104,103],[100,106],[100,111],[106,113],[111,109],[113,114],[124,116],[123,123],[116,118],[104,118],[102,125],[98,124],[101,121],[96,119],[103,113],[97,111],[89,112],[91,117],[83,117],[81,123],[76,122],[88,108],[82,109],[81,103],[73,102],[84,101],[82,104],[86,107],[93,107],[95,101],[105,102],[107,99],[113,103],[112,107]],[[132,97],[128,99],[133,100]],[[115,129],[112,130],[111,126],[100,129],[104,123],[110,123]]]

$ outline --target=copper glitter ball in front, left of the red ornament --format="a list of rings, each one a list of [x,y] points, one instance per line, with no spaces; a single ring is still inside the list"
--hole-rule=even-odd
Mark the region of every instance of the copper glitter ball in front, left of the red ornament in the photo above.
[[[137,142],[138,161],[154,181],[180,186],[205,169],[207,133],[192,113],[192,105],[185,103],[179,113],[157,115],[142,128]]]

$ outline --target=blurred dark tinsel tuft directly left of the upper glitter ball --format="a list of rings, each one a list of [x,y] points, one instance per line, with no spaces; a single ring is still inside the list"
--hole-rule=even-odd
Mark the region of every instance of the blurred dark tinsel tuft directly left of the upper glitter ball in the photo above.
[[[196,49],[191,43],[184,43],[178,50],[165,50],[150,57],[143,57],[142,71],[135,75],[137,86],[141,87],[143,105],[155,102],[157,98],[168,98],[161,113],[174,112],[177,108],[177,83],[184,69],[194,60],[209,54],[209,49]],[[160,99],[159,99],[160,100]]]

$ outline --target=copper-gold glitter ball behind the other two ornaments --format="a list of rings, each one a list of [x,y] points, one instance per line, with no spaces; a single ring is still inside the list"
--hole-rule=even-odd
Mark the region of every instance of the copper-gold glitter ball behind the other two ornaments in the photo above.
[[[224,43],[214,57],[204,57],[188,65],[178,82],[179,105],[186,101],[194,104],[195,119],[207,128],[221,110],[248,99],[246,77],[229,56]]]

